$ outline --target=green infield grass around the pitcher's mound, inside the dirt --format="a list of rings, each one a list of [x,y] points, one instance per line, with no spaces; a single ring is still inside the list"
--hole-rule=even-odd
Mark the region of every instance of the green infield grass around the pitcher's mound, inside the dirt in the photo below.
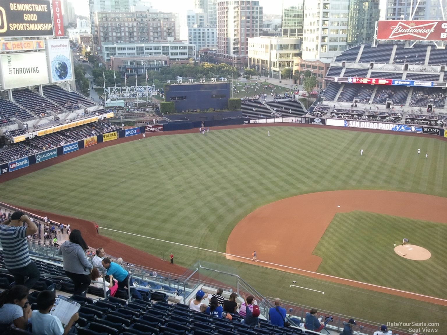
[[[313,253],[323,259],[318,272],[445,298],[446,236],[442,223],[361,211],[337,213]],[[393,244],[401,244],[404,237],[429,250],[430,259],[396,255]]]

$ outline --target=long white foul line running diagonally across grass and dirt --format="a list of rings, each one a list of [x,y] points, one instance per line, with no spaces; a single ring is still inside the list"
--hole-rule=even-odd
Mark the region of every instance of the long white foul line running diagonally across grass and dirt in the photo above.
[[[139,235],[139,234],[134,234],[134,233],[129,233],[127,231],[121,231],[121,230],[115,230],[115,229],[110,229],[110,228],[104,228],[104,227],[99,227],[101,229],[105,229],[105,230],[111,230],[111,231],[116,231],[118,233],[122,233],[122,234],[129,234],[129,235],[134,235],[134,236],[138,236],[138,237],[143,237],[144,239],[153,239],[156,241],[160,241],[160,242],[165,242],[165,243],[171,243],[171,244],[176,244],[176,245],[180,245],[183,247],[189,247],[189,248],[193,248],[193,249],[198,249],[198,250],[203,250],[203,251],[209,251],[209,252],[214,252],[216,254],[220,254],[220,255],[225,255],[225,256],[231,256],[231,257],[236,257],[236,258],[241,258],[244,260],[252,260],[249,257],[243,257],[243,256],[237,256],[237,255],[232,255],[232,254],[227,254],[225,252],[221,252],[221,251],[215,251],[215,250],[210,250],[210,249],[205,249],[205,248],[200,248],[200,247],[194,247],[192,245],[188,245],[188,244],[183,244],[183,243],[177,243],[177,242],[171,242],[171,241],[166,241],[164,239],[156,239],[154,237],[149,237],[149,236],[143,236],[143,235]],[[270,263],[270,262],[265,262],[263,260],[258,260],[258,263],[264,263],[264,264],[270,264],[270,265],[275,265],[275,266],[280,266],[282,268],[288,268],[288,269],[292,269],[292,270],[298,270],[298,271],[302,271],[302,272],[307,272],[307,273],[312,273],[318,276],[323,276],[323,277],[328,277],[328,278],[335,278],[335,279],[340,279],[343,281],[349,281],[351,283],[357,283],[357,284],[362,284],[362,285],[366,285],[366,286],[372,286],[372,287],[378,287],[380,289],[388,289],[390,291],[394,291],[394,292],[401,292],[401,293],[406,293],[406,294],[411,294],[417,297],[426,297],[426,298],[430,298],[430,299],[435,299],[435,300],[439,300],[442,302],[447,302],[447,299],[442,299],[442,298],[438,298],[438,297],[430,297],[429,295],[425,295],[425,294],[420,294],[420,293],[414,293],[414,292],[409,292],[409,291],[404,291],[401,289],[392,289],[391,287],[386,287],[386,286],[380,286],[380,285],[375,285],[375,284],[370,284],[370,283],[365,283],[363,281],[354,281],[352,279],[346,279],[346,278],[342,278],[342,277],[337,277],[337,276],[331,276],[331,275],[326,275],[325,273],[319,273],[319,272],[313,272],[313,271],[308,271],[308,270],[303,270],[303,269],[299,269],[299,268],[293,268],[291,266],[287,266],[287,265],[281,265],[281,264],[276,264],[276,263]],[[345,284],[346,285],[346,284]]]

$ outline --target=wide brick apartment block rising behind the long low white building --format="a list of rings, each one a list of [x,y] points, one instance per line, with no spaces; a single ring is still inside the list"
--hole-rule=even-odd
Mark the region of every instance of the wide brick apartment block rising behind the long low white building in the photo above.
[[[97,12],[95,15],[97,43],[95,50],[101,54],[105,42],[148,43],[174,40],[173,13],[151,12]],[[138,52],[136,52],[138,56]]]

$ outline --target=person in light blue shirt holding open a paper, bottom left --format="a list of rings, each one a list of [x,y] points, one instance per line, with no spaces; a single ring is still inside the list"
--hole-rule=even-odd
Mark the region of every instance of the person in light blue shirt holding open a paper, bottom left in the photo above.
[[[37,335],[67,335],[73,324],[79,319],[79,314],[75,313],[70,318],[65,329],[62,322],[55,315],[51,315],[50,311],[56,302],[56,296],[53,291],[42,291],[37,296],[38,311],[34,311],[31,317],[33,324],[33,334]]]

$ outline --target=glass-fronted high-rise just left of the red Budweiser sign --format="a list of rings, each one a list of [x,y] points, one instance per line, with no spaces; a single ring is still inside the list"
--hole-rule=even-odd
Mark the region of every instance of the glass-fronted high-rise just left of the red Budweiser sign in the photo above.
[[[348,45],[371,42],[375,22],[379,20],[380,0],[350,0],[348,16]]]

